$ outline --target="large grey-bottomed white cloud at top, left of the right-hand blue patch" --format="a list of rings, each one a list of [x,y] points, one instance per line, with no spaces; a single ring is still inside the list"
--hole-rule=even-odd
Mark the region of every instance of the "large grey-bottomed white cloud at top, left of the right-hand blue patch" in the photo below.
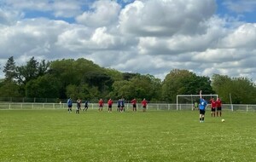
[[[121,11],[121,31],[138,36],[172,36],[204,32],[203,22],[216,9],[215,1],[135,1]]]

